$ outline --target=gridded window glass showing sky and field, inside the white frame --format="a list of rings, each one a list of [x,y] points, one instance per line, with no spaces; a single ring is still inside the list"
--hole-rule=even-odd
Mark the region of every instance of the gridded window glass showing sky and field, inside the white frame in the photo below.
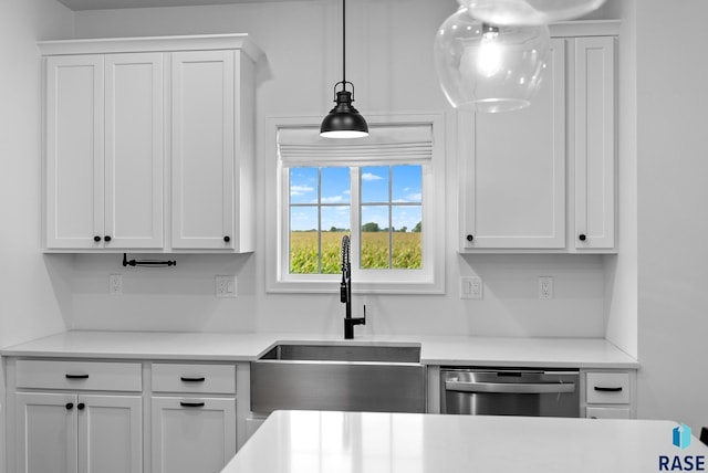
[[[362,222],[353,236],[361,270],[423,267],[420,165],[296,167],[289,170],[289,273],[336,274],[352,206]],[[352,169],[354,172],[352,172]],[[362,201],[351,202],[358,176]],[[351,202],[351,203],[350,203]]]

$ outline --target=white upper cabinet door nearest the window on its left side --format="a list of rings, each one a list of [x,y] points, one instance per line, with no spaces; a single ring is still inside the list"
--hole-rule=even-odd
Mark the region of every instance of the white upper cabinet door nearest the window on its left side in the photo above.
[[[173,54],[174,249],[235,246],[235,52]]]

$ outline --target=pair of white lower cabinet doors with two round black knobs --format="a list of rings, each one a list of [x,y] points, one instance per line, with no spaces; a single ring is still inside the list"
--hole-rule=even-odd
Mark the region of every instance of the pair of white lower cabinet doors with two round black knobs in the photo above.
[[[139,473],[140,396],[18,392],[17,472]]]

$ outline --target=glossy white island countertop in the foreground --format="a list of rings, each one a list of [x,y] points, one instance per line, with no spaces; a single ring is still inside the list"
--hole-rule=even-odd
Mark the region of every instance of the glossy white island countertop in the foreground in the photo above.
[[[671,444],[657,420],[277,411],[221,473],[649,473]],[[704,459],[705,462],[705,459]],[[669,466],[671,463],[668,463]]]

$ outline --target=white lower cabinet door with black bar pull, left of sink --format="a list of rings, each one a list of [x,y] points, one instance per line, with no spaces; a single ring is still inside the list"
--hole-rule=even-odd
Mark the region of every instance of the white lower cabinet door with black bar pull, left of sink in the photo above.
[[[152,399],[152,473],[218,473],[236,454],[236,398]]]

